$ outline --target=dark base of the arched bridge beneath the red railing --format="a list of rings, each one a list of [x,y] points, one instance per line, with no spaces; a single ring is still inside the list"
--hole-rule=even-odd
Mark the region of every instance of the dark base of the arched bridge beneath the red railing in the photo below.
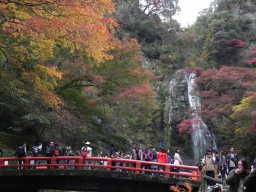
[[[170,185],[184,185],[179,178],[97,170],[1,170],[0,191],[37,192],[58,189],[92,192],[170,192]],[[186,180],[197,191],[200,182]]]

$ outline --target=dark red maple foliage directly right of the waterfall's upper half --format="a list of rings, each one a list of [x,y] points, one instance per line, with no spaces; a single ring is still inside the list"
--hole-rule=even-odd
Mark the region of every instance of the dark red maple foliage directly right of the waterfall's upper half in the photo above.
[[[202,88],[201,113],[204,118],[228,118],[232,113],[232,106],[252,94],[256,71],[245,67],[208,69],[202,72],[196,81]]]

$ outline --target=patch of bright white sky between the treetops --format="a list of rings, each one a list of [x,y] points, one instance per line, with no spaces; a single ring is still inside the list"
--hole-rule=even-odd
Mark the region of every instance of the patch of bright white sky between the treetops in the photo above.
[[[179,0],[180,12],[173,16],[182,27],[187,27],[196,21],[196,17],[204,8],[209,8],[212,0]]]

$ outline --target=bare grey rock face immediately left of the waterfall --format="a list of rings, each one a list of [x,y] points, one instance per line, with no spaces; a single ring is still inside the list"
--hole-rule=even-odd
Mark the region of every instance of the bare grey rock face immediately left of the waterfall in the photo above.
[[[170,144],[172,151],[180,148],[184,164],[193,164],[190,136],[180,136],[179,123],[188,118],[189,98],[188,83],[183,70],[177,70],[166,87],[166,102],[164,106],[164,121],[166,141]]]

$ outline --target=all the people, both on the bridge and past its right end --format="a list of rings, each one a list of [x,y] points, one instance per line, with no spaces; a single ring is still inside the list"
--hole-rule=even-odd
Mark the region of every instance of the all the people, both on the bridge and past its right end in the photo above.
[[[42,156],[42,143],[31,147],[31,150],[27,150],[27,143],[23,143],[19,146],[15,152],[16,157],[27,157],[27,156]],[[59,143],[54,143],[51,141],[47,147],[45,147],[45,156],[46,157],[58,157],[58,156],[83,156],[83,157],[92,157],[92,146],[89,141],[84,143],[84,146],[81,147],[81,150],[76,152],[72,151],[72,147],[68,146],[61,148]],[[0,150],[0,157],[3,157],[3,151]],[[156,148],[145,148],[141,150],[138,146],[134,147],[131,152],[124,154],[120,150],[116,150],[115,145],[112,143],[105,155],[102,151],[99,151],[97,157],[109,157],[109,158],[122,158],[122,159],[134,159],[139,161],[151,161],[156,163],[169,163],[169,164],[178,164],[182,165],[182,159],[180,157],[180,150],[177,148],[174,154],[170,153],[170,150],[166,150],[164,143],[162,142],[159,146],[159,152]],[[19,161],[19,164],[23,164],[22,160]],[[57,161],[57,164],[60,164],[60,160]],[[65,162],[67,164],[74,164],[72,160]],[[84,164],[90,164],[90,161],[84,162]],[[106,165],[107,161],[100,161],[99,164]],[[34,161],[33,164],[38,164],[38,161]],[[51,164],[51,160],[47,160],[47,164]],[[113,166],[126,166],[122,163],[112,163]],[[230,192],[253,192],[256,191],[256,158],[250,167],[248,162],[245,159],[239,159],[235,153],[234,148],[230,148],[230,152],[225,154],[221,151],[220,153],[216,148],[209,148],[203,159],[201,159],[198,167],[202,172],[205,172],[205,175],[215,178],[223,179],[230,186]],[[47,166],[50,168],[50,166]],[[68,168],[74,168],[74,166],[68,166]],[[143,168],[146,170],[159,170],[159,166],[156,165],[143,165]],[[90,169],[90,167],[88,167]],[[114,170],[114,169],[113,169]],[[164,170],[164,167],[163,167]],[[115,171],[122,172],[122,169],[115,169]],[[178,168],[172,168],[172,172],[179,172]],[[145,172],[145,174],[152,174]],[[253,182],[254,181],[254,182]],[[207,189],[212,191],[218,191],[216,188],[216,182],[212,180],[207,180]]]

